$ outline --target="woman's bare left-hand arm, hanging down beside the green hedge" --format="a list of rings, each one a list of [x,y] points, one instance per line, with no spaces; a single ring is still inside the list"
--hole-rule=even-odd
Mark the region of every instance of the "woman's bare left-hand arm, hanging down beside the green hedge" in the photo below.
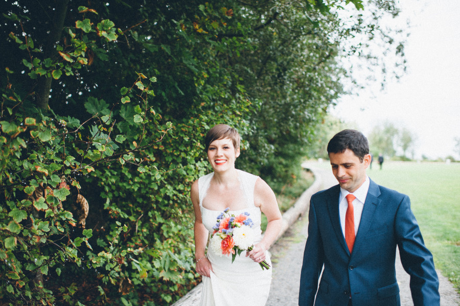
[[[198,198],[198,180],[192,184],[192,190],[190,191],[190,198],[193,203],[193,210],[195,211],[195,225],[194,225],[194,236],[195,236],[195,270],[200,275],[210,277],[210,271],[213,270],[211,263],[208,258],[205,257],[206,244],[208,243],[209,232],[204,227],[201,220],[201,211],[199,206]]]

